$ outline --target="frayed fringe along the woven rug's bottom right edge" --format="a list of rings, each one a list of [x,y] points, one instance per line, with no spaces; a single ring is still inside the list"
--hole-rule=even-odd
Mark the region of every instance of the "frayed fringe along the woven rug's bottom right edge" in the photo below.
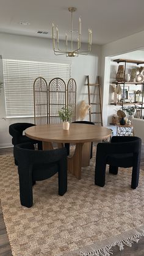
[[[120,251],[122,251],[124,249],[124,245],[131,247],[134,242],[138,243],[142,236],[144,236],[144,232],[137,233],[137,235],[130,236],[124,240],[110,244],[109,246],[104,246],[104,247],[102,247],[98,250],[92,251],[92,252],[85,253],[85,252],[81,251],[77,255],[81,255],[81,256],[110,256],[113,254],[112,247],[118,246]]]

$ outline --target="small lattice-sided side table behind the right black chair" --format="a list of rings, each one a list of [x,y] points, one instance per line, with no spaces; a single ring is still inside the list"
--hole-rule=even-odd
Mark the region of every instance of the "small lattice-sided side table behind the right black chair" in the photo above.
[[[120,125],[120,123],[117,123],[117,136],[134,136],[133,125]]]

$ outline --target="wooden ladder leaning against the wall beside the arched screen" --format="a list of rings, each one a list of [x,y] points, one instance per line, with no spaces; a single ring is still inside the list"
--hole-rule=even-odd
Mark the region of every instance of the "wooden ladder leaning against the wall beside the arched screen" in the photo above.
[[[98,76],[98,84],[90,84],[90,79],[89,76],[87,76],[87,86],[88,86],[88,104],[91,106],[90,110],[89,110],[89,117],[90,117],[90,122],[96,123],[96,124],[101,124],[101,126],[103,126],[103,117],[102,117],[102,102],[101,102],[101,82],[100,82],[100,77]],[[95,92],[91,92],[90,87],[91,86],[95,86],[96,90]],[[91,102],[91,95],[93,95],[94,98],[98,98],[99,102],[96,103],[95,102]],[[96,110],[95,112],[92,111],[92,106],[99,106],[98,111]],[[99,115],[99,122],[96,120],[92,120],[92,115]],[[97,117],[98,117],[97,115]]]

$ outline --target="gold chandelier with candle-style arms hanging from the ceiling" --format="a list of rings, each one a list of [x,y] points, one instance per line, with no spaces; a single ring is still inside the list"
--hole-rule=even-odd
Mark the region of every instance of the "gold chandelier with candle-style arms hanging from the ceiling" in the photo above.
[[[68,49],[68,35],[65,34],[65,50],[59,48],[59,30],[56,27],[56,35],[55,35],[55,26],[52,23],[52,42],[54,48],[54,54],[62,55],[65,54],[67,57],[74,57],[79,56],[79,54],[87,55],[90,53],[92,48],[92,30],[88,29],[88,49],[87,51],[82,51],[81,49],[81,35],[82,35],[82,25],[81,25],[81,18],[79,18],[79,35],[77,38],[77,49],[73,49],[73,12],[76,11],[75,7],[69,7],[69,12],[71,12],[71,48]]]

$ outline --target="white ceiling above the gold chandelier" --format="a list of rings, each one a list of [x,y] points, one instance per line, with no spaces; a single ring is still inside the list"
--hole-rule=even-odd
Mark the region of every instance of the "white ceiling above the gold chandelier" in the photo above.
[[[54,23],[64,39],[71,29],[71,6],[77,8],[74,29],[81,16],[82,42],[88,40],[88,27],[93,31],[92,42],[100,45],[144,30],[144,0],[0,0],[0,32],[51,38]],[[30,25],[22,26],[20,21]],[[39,30],[49,34],[38,35]]]

